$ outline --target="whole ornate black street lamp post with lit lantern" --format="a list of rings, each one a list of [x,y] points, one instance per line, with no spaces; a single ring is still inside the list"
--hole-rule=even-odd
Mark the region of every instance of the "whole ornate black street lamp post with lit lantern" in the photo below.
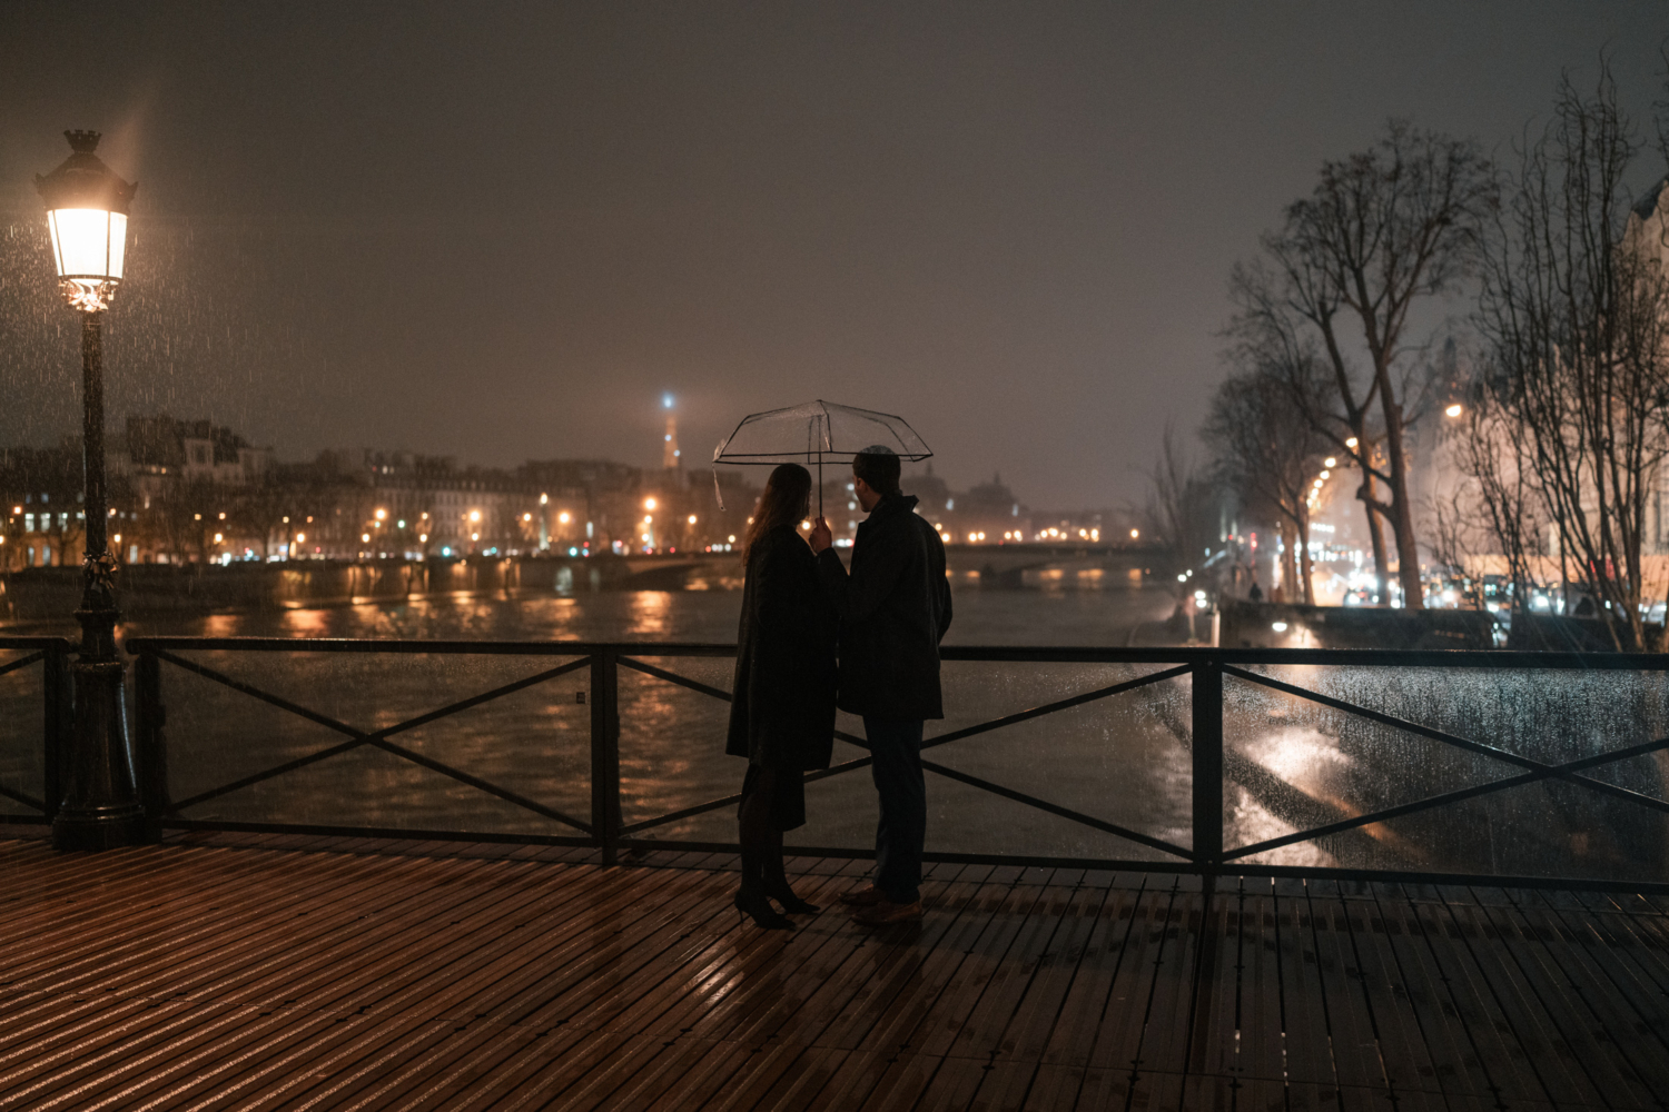
[[[105,543],[108,498],[103,473],[103,333],[100,322],[122,282],[127,207],[135,185],[93,155],[98,132],[65,132],[75,150],[35,178],[47,202],[58,288],[82,315],[82,458],[87,493],[87,553],[82,562],[82,647],[75,675],[75,734],[63,762],[65,794],[52,820],[58,849],[95,850],[144,840],[144,810],[134,790],[127,744],[122,657],[115,647],[115,557]]]

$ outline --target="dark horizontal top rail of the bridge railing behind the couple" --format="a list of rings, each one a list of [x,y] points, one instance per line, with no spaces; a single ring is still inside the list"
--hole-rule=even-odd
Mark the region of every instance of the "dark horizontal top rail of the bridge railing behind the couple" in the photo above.
[[[72,647],[55,637],[0,639],[15,647]],[[28,642],[27,645],[23,642]],[[129,637],[130,654],[169,652],[392,652],[501,654],[589,657],[616,652],[633,657],[733,657],[736,645],[706,642],[586,642],[586,640],[414,640],[337,637]],[[1016,664],[1240,664],[1332,665],[1392,669],[1562,669],[1607,672],[1669,672],[1669,654],[1624,652],[1504,652],[1489,649],[1097,649],[1073,645],[945,645],[945,660]]]

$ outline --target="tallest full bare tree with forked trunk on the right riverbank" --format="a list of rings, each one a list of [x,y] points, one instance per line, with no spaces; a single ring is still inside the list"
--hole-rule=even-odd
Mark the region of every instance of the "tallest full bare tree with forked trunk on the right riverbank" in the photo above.
[[[1350,428],[1335,437],[1337,448],[1362,470],[1370,533],[1375,513],[1390,522],[1407,607],[1424,605],[1409,495],[1407,435],[1417,417],[1409,408],[1407,377],[1417,362],[1405,348],[1409,315],[1419,298],[1464,277],[1494,203],[1494,170],[1475,142],[1392,120],[1370,150],[1324,163],[1312,193],[1288,205],[1282,230],[1263,240],[1280,278],[1278,305],[1315,330],[1334,372],[1342,423]],[[1352,375],[1352,345],[1364,355],[1365,382]],[[1375,465],[1365,423],[1375,402],[1384,467]],[[1377,482],[1389,500],[1379,497]]]

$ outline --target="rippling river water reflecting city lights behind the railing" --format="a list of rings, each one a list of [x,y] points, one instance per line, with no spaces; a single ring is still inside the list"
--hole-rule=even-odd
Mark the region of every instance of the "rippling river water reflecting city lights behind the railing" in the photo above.
[[[950,644],[1125,645],[1157,634],[1170,600],[1120,585],[1105,590],[980,590],[960,585]],[[134,622],[127,635],[350,637],[494,642],[716,642],[736,635],[734,590],[594,592],[571,597],[442,597],[401,604],[217,614]],[[10,632],[10,630],[8,630]],[[40,630],[30,630],[40,632]],[[639,657],[719,690],[731,662]],[[381,730],[437,707],[546,672],[574,657],[192,652],[190,660],[270,695]],[[0,655],[0,665],[5,664]],[[1103,689],[1165,665],[948,662],[946,719],[928,735]],[[1666,729],[1656,674],[1525,677],[1442,670],[1287,669],[1278,679],[1372,705],[1460,735],[1505,742],[1540,760],[1616,749]],[[38,722],[38,667],[0,677],[8,717],[0,785],[40,784],[38,759],[15,744]],[[648,822],[733,794],[741,762],[723,754],[728,705],[639,672],[621,672],[621,805]],[[33,692],[30,690],[33,687]],[[344,740],[247,694],[164,665],[170,792],[194,800],[264,769]],[[1190,685],[1168,679],[1135,692],[933,747],[926,757],[963,777],[1021,792],[1162,842],[1190,844]],[[861,722],[840,729],[861,737]],[[1654,730],[1657,734],[1654,734]],[[496,784],[554,812],[591,815],[591,705],[586,669],[402,730],[391,740]],[[1225,844],[1252,845],[1512,772],[1497,760],[1280,695],[1230,677],[1225,684]],[[836,762],[861,750],[836,742]],[[1594,772],[1629,792],[1662,799],[1656,757]],[[38,792],[38,787],[33,789]],[[0,804],[5,805],[5,804]],[[930,849],[1173,860],[1152,845],[930,774]],[[17,810],[13,807],[13,810]],[[799,845],[865,847],[875,792],[860,769],[808,787],[811,822]],[[559,820],[372,747],[357,747],[272,780],[204,797],[187,817],[282,820],[414,830],[572,834]],[[651,827],[644,837],[733,840],[733,809]],[[1656,875],[1661,815],[1627,802],[1545,784],[1512,789],[1464,809],[1412,815],[1365,830],[1260,854],[1265,864],[1377,865],[1465,872]]]

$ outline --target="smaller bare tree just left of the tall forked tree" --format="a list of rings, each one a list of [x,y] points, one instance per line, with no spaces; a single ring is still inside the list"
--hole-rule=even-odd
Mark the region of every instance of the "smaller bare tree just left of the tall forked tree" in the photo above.
[[[1297,365],[1255,363],[1230,375],[1217,387],[1203,432],[1222,482],[1250,508],[1273,512],[1282,533],[1292,538],[1287,582],[1302,592],[1293,602],[1315,605],[1312,483],[1327,440],[1310,423],[1292,418],[1293,383],[1305,398],[1320,387],[1315,358],[1300,352],[1297,360]]]

